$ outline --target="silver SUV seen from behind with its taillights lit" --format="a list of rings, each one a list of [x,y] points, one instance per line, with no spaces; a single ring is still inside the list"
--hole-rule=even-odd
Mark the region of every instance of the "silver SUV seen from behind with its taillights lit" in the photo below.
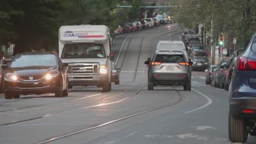
[[[148,58],[148,90],[154,86],[183,86],[184,91],[191,91],[191,68],[183,51],[158,51],[153,58]]]

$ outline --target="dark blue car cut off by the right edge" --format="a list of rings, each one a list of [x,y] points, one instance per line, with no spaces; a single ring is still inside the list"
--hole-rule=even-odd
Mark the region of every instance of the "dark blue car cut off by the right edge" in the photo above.
[[[256,136],[256,32],[235,62],[229,86],[229,139]]]

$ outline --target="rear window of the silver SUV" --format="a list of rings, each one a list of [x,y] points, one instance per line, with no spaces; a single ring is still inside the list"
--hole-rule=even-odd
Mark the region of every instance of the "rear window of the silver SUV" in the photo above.
[[[185,62],[183,55],[156,55],[155,62],[180,63]]]

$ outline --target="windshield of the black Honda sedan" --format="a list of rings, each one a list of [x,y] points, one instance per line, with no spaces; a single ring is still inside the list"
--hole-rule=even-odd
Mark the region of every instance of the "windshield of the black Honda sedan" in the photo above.
[[[57,65],[57,59],[55,55],[19,55],[13,59],[10,64],[10,68],[20,67],[55,67]]]

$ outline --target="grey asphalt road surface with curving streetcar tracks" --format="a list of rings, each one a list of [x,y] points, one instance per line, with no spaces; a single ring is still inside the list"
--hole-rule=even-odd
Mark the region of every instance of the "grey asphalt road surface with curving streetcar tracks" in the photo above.
[[[193,71],[191,92],[179,86],[147,90],[144,61],[159,40],[180,40],[182,31],[171,23],[118,35],[112,51],[120,85],[110,92],[77,86],[63,98],[5,100],[1,94],[0,143],[231,143],[228,92],[205,85],[204,71]]]

